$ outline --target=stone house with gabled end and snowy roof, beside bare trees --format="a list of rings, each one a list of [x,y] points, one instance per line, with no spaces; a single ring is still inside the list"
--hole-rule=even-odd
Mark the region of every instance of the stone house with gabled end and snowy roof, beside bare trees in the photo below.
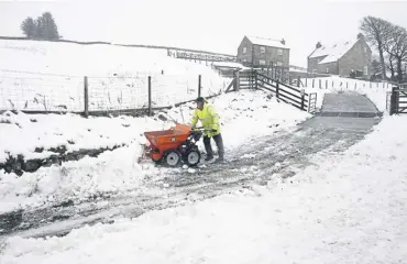
[[[308,56],[308,73],[329,74],[343,77],[370,78],[372,75],[372,50],[364,36],[356,40],[323,46],[317,43],[315,51]]]

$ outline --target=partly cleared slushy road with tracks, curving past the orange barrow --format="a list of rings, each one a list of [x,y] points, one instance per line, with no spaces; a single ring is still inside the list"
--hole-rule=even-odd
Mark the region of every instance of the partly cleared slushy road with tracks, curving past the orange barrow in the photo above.
[[[204,167],[194,174],[174,169],[146,182],[146,188],[129,191],[125,196],[109,198],[109,194],[105,194],[79,205],[66,201],[57,207],[20,211],[2,218],[10,219],[8,235],[64,234],[85,223],[112,222],[122,216],[133,218],[150,210],[186,205],[273,180],[289,180],[312,163],[309,158],[314,154],[329,155],[346,150],[371,132],[380,120],[314,117],[292,130],[252,140],[230,153],[226,164]]]

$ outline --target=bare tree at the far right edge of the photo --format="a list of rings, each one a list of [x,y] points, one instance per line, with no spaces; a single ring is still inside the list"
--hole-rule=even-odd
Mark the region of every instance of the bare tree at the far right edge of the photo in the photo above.
[[[395,59],[397,80],[403,82],[403,64],[407,61],[406,29],[393,25],[387,42],[384,45],[384,50]]]

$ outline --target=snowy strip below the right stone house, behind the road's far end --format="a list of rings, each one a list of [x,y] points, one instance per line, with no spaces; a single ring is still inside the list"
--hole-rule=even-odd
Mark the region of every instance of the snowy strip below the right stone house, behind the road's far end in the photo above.
[[[384,112],[386,110],[386,92],[392,90],[392,85],[388,82],[371,82],[339,76],[308,78],[307,81],[301,79],[301,82],[307,92],[317,92],[318,108],[322,106],[323,95],[327,92],[358,92],[365,95],[376,105],[378,111]],[[321,82],[321,88],[319,82]]]

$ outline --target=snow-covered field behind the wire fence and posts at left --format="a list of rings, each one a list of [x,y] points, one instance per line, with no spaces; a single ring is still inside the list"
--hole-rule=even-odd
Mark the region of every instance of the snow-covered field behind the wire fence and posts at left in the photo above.
[[[84,76],[89,110],[153,107],[195,99],[230,84],[210,66],[168,57],[165,50],[0,41],[0,110],[84,111]]]

